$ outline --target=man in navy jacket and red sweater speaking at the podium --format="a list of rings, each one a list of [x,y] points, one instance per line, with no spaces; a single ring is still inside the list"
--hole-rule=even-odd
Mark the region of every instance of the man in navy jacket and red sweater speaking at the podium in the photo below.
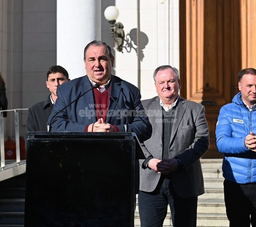
[[[136,133],[141,143],[149,139],[152,126],[141,104],[140,90],[111,75],[114,56],[110,46],[97,40],[87,44],[84,64],[87,75],[58,87],[58,99],[48,119],[51,131],[124,132],[124,125],[127,124],[128,131]],[[96,88],[95,84],[100,86]],[[83,97],[68,106],[86,91]]]

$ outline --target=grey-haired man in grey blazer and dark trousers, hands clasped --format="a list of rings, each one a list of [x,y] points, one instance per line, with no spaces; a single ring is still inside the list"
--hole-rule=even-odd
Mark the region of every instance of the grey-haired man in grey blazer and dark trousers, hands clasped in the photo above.
[[[142,101],[153,133],[144,142],[152,156],[140,160],[140,224],[163,226],[169,204],[173,226],[195,227],[204,193],[200,158],[209,148],[204,106],[179,96],[176,68],[156,68],[154,80],[158,96]]]

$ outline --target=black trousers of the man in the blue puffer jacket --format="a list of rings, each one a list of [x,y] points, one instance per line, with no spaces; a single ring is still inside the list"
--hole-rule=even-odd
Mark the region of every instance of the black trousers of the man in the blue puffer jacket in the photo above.
[[[224,180],[224,198],[230,227],[256,226],[256,184]]]

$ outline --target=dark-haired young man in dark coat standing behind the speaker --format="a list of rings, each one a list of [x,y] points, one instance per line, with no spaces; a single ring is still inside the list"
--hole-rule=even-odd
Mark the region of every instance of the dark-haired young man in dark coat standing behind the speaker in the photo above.
[[[51,94],[45,101],[38,102],[28,109],[25,140],[28,138],[28,132],[47,131],[47,120],[58,98],[56,94],[57,87],[70,80],[68,79],[67,70],[61,66],[50,67],[46,74],[46,79],[46,86],[49,88]]]

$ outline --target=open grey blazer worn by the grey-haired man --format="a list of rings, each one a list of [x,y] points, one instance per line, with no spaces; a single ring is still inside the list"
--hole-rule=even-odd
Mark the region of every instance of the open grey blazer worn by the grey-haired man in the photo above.
[[[163,124],[159,97],[143,100],[142,105],[153,128],[152,137],[144,142],[153,158],[162,160]],[[200,158],[209,149],[209,129],[204,116],[204,106],[179,98],[173,121],[169,145],[169,158],[181,160],[184,169],[172,171],[170,179],[175,192],[182,198],[204,194],[204,179]],[[160,174],[146,168],[140,160],[140,191],[152,192]]]

